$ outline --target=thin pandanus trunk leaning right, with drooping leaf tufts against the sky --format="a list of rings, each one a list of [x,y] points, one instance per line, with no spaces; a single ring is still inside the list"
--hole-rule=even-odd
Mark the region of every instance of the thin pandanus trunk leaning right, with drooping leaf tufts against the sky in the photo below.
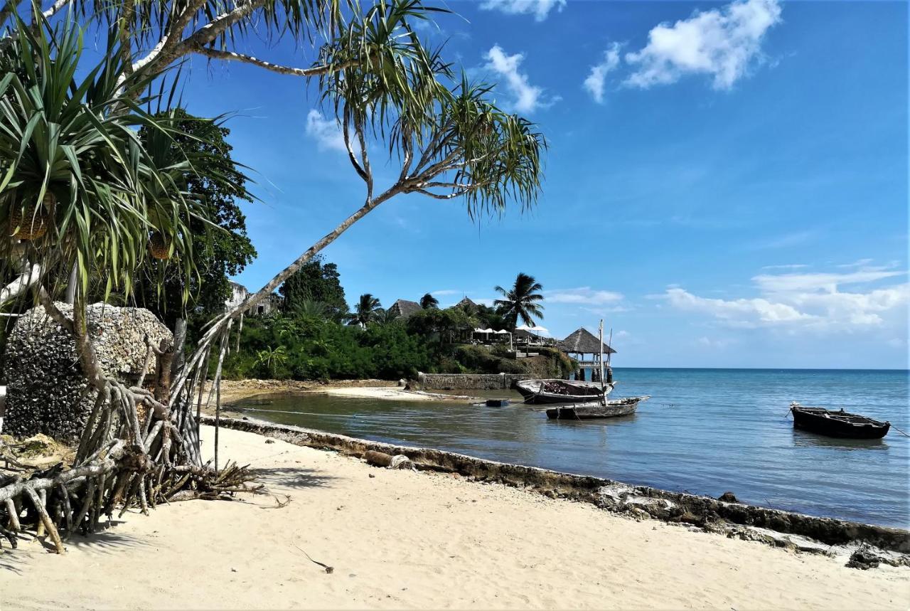
[[[324,105],[336,117],[355,174],[364,183],[364,199],[338,227],[309,247],[272,280],[222,316],[200,337],[197,350],[177,378],[172,401],[180,392],[189,398],[187,380],[203,380],[200,367],[218,341],[225,345],[233,321],[319,254],[359,219],[399,195],[420,194],[431,199],[460,200],[470,218],[501,214],[512,202],[531,206],[541,188],[541,155],[546,142],[527,119],[501,110],[490,101],[491,87],[454,77],[440,51],[420,45],[408,24],[407,12],[375,13],[368,31],[389,30],[406,54],[388,60],[366,56],[351,62],[350,43],[323,49],[318,65],[343,66],[319,76]],[[372,170],[374,143],[388,151],[398,166],[397,178],[377,188]],[[220,351],[215,384],[219,382]]]

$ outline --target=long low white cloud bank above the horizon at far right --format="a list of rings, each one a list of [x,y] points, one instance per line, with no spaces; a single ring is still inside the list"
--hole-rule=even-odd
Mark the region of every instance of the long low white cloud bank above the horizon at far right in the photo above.
[[[667,289],[662,297],[678,310],[702,312],[734,327],[854,331],[885,328],[889,318],[896,325],[906,320],[910,283],[864,286],[905,275],[905,271],[877,268],[850,273],[761,274],[753,277],[759,297],[711,299],[679,287]],[[844,290],[846,287],[850,288]]]

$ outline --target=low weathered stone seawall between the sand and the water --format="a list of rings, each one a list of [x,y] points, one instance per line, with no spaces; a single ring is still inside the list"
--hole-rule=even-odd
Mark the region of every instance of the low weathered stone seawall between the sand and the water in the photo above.
[[[204,423],[213,424],[214,421],[209,418]],[[497,463],[430,448],[371,442],[246,417],[225,418],[221,425],[355,457],[362,457],[367,452],[403,455],[421,470],[460,474],[478,482],[521,487],[550,498],[594,504],[636,519],[687,525],[798,552],[844,556],[860,568],[876,563],[910,566],[910,532],[902,529],[740,504],[727,500],[731,497],[713,499],[648,486],[632,486],[598,477]]]

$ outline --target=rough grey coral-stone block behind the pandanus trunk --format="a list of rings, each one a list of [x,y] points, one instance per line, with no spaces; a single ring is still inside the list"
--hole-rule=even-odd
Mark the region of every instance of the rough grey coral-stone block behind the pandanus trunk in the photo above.
[[[72,320],[73,307],[57,303]],[[123,382],[138,380],[146,362],[147,343],[157,347],[173,336],[155,315],[142,308],[117,308],[96,303],[86,321],[104,371]],[[6,343],[7,381],[4,432],[17,437],[45,433],[62,442],[78,439],[95,401],[69,331],[53,321],[41,306],[16,321]],[[154,369],[151,359],[149,370]],[[149,381],[154,375],[149,376]]]

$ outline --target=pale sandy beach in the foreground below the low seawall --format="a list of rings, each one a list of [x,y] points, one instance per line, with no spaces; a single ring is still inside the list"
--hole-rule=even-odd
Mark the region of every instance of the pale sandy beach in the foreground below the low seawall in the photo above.
[[[221,435],[221,455],[251,463],[287,507],[263,496],[159,506],[74,537],[63,556],[24,541],[0,555],[0,607],[910,606],[910,569],[848,569],[502,485]]]

